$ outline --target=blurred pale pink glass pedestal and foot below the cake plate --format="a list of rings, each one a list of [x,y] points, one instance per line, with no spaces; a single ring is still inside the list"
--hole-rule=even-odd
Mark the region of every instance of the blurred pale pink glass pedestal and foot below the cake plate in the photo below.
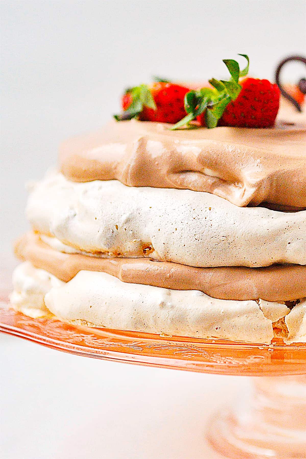
[[[226,458],[306,459],[306,375],[252,380],[249,394],[211,419],[212,447]]]

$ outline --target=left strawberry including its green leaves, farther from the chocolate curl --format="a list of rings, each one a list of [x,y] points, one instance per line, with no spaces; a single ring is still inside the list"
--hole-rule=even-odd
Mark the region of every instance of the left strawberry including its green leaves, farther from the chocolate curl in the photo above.
[[[117,121],[139,118],[142,121],[177,123],[186,115],[184,97],[188,91],[189,88],[168,81],[129,88],[121,98],[123,113],[114,117]]]

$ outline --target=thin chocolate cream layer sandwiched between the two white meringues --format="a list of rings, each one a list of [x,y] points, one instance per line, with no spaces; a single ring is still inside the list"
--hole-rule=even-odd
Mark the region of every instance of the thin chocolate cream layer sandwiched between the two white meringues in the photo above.
[[[199,290],[224,300],[293,301],[306,297],[306,266],[277,265],[266,268],[196,268],[147,258],[101,258],[63,253],[28,233],[15,244],[15,254],[68,282],[79,271],[105,272],[123,282],[171,290]]]

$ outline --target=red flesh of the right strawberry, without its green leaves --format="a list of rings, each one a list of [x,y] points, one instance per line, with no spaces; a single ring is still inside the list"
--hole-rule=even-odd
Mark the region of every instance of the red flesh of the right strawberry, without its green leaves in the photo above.
[[[245,78],[242,89],[230,102],[220,121],[220,126],[242,128],[269,128],[278,114],[280,90],[268,80]]]

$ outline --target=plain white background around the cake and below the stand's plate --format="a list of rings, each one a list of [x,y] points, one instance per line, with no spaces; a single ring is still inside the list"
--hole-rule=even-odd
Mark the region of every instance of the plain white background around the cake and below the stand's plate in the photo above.
[[[151,75],[250,73],[305,54],[306,1],[1,1],[1,252],[28,225],[24,183],[56,162],[59,142],[96,129],[119,95]],[[298,64],[284,72],[296,82]],[[215,458],[204,429],[246,378],[198,375],[71,356],[1,338],[3,459]]]

